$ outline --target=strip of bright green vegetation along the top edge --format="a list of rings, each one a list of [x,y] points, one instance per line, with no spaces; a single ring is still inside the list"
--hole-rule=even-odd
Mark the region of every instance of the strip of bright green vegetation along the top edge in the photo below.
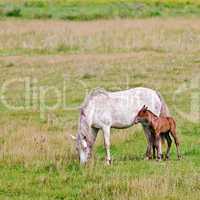
[[[200,16],[200,1],[194,0],[85,0],[0,1],[0,19],[95,20],[155,16]]]

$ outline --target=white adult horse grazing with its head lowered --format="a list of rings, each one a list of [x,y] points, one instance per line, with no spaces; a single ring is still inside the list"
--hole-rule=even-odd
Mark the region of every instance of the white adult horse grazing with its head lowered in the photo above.
[[[111,164],[110,129],[128,128],[143,105],[157,116],[169,115],[168,108],[162,96],[149,88],[137,87],[118,92],[108,92],[95,89],[85,98],[80,109],[78,133],[76,137],[77,151],[81,163],[86,163],[91,157],[92,146],[98,131],[103,130],[106,149],[106,162]],[[151,151],[151,133],[143,126],[148,146],[146,156]],[[161,148],[161,147],[160,147]]]

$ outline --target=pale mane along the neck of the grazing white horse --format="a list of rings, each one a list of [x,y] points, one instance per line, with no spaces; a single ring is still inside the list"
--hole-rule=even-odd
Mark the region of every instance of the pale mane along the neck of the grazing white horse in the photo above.
[[[107,91],[104,88],[94,88],[92,89],[89,94],[85,97],[83,104],[81,105],[80,109],[83,111],[89,104],[90,100],[99,95],[99,94],[103,94],[103,95],[107,95]]]

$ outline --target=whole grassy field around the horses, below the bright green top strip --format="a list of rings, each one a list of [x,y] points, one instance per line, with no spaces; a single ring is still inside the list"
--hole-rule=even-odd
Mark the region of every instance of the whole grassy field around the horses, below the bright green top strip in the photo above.
[[[0,199],[199,199],[199,18],[6,19],[0,27]],[[146,140],[138,125],[112,130],[112,166],[105,166],[100,132],[93,159],[81,167],[69,134],[76,133],[86,93],[136,86],[166,99],[183,158],[176,160],[173,145],[170,161],[143,160]],[[60,91],[54,110],[47,105],[57,103],[57,93],[42,93],[45,87]],[[9,109],[5,101],[23,107]]]

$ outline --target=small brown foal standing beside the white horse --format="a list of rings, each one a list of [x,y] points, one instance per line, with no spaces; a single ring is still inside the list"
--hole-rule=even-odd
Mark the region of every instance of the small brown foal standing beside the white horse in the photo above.
[[[179,140],[176,135],[176,123],[172,117],[157,117],[144,105],[142,109],[138,112],[134,123],[141,123],[144,126],[148,126],[152,134],[152,147],[155,153],[155,148],[157,150],[157,159],[161,160],[161,139],[166,139],[168,148],[166,152],[166,158],[169,159],[169,152],[172,140],[169,133],[174,138],[177,150],[177,156],[180,158],[179,153]],[[154,148],[155,147],[155,148]],[[151,154],[151,149],[150,152]]]

